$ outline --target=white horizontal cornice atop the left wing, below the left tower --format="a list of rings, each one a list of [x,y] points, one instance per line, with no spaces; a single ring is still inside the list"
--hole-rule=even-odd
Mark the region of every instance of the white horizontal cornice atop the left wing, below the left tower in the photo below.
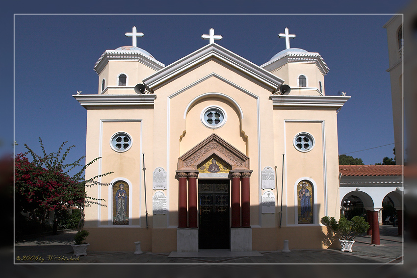
[[[154,105],[156,95],[73,95],[84,108],[97,106],[144,106]]]

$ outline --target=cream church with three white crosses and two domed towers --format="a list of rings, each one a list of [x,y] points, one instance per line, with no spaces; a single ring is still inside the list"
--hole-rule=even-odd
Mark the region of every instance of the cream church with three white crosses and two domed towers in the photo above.
[[[136,46],[107,50],[87,109],[85,208],[91,251],[327,248],[339,219],[337,111],[317,52],[290,48],[258,66],[209,44],[165,66]],[[143,35],[143,34],[142,34]]]

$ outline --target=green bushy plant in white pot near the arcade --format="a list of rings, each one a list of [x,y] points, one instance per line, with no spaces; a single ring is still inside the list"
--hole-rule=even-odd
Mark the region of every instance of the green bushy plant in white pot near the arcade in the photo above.
[[[353,239],[369,229],[369,224],[362,216],[355,216],[351,221],[347,220],[343,215],[340,215],[339,222],[334,217],[324,216],[321,218],[321,223],[330,228],[339,238],[341,251],[352,252],[352,245],[355,242]]]

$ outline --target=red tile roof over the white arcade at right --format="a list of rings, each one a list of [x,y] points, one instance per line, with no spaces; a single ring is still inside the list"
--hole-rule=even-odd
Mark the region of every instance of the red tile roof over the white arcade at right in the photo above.
[[[342,176],[402,176],[402,165],[339,165]]]

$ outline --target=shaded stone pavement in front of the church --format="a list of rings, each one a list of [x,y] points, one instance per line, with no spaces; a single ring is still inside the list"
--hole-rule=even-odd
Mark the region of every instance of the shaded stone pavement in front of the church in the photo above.
[[[402,264],[403,238],[396,235],[397,228],[380,226],[381,245],[371,244],[370,236],[355,239],[353,252],[334,249],[281,250],[248,253],[209,251],[208,256],[172,257],[170,253],[135,255],[131,252],[88,252],[87,256],[74,257],[71,243],[75,231],[55,236],[44,236],[15,244],[14,263],[18,264]],[[291,249],[291,243],[289,244]],[[217,253],[216,253],[217,252]],[[216,255],[217,254],[217,255]],[[255,253],[254,253],[255,254]]]

